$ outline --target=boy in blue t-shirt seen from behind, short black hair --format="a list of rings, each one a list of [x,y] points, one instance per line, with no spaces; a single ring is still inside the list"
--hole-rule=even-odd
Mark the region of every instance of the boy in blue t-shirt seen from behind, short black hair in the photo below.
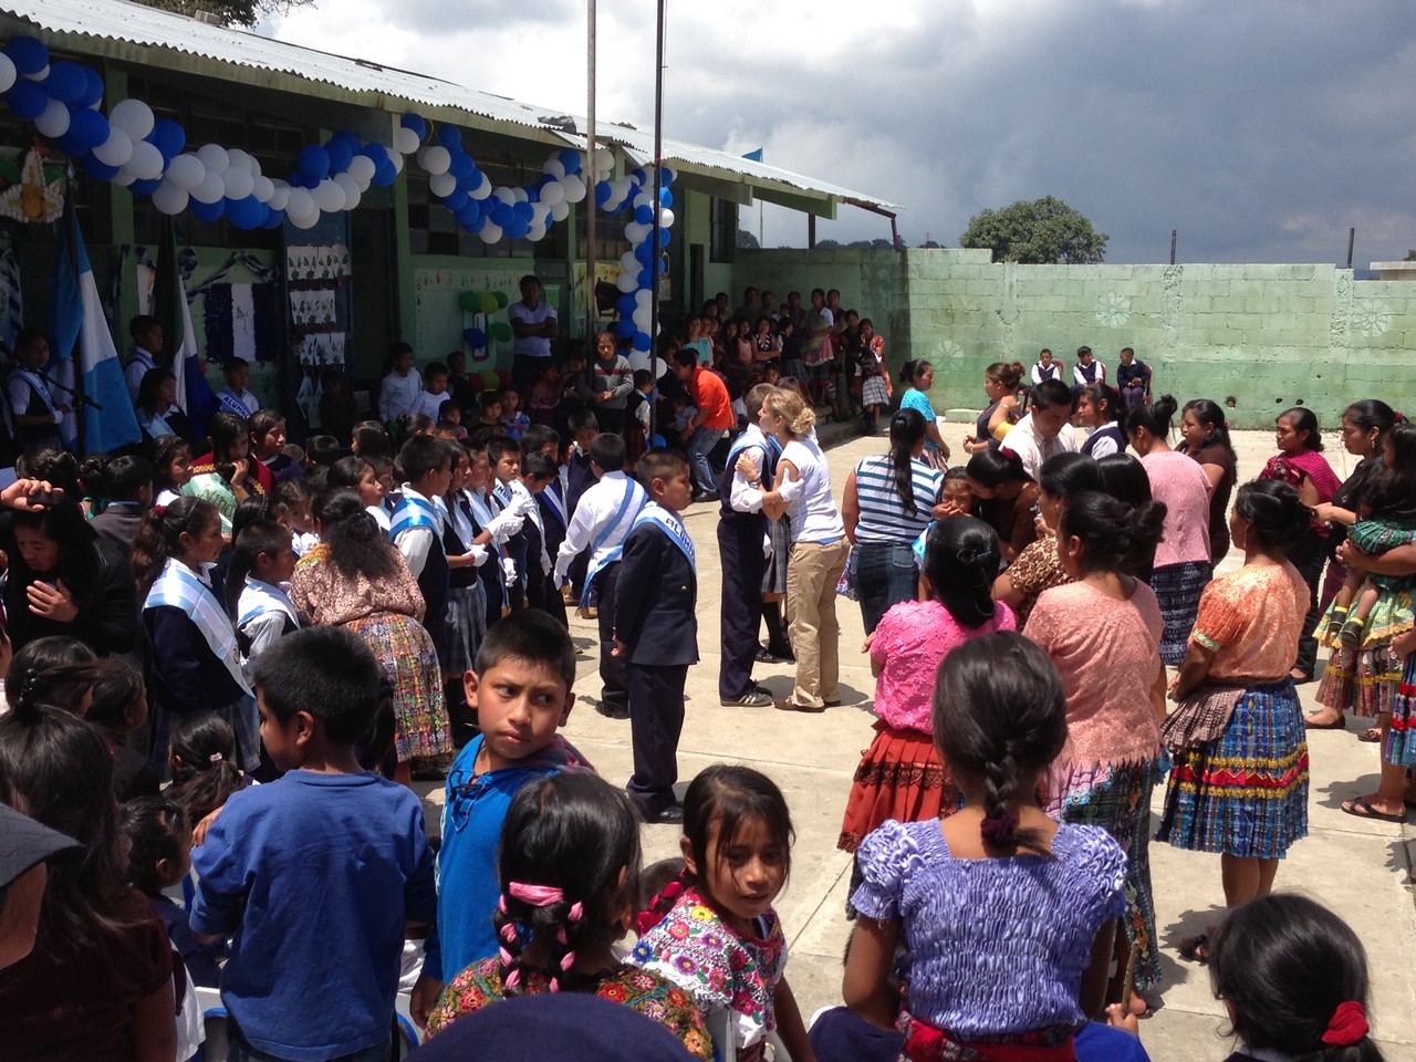
[[[382,683],[343,627],[256,664],[261,738],[286,773],[234,793],[191,852],[193,930],[234,935],[221,998],[241,1058],[388,1058],[404,936],[436,895],[422,804],[354,755]]]

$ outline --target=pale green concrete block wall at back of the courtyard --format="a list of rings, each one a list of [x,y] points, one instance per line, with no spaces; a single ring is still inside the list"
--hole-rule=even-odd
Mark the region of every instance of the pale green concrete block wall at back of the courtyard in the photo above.
[[[1082,344],[1113,374],[1116,353],[1134,347],[1155,371],[1155,394],[1232,398],[1236,428],[1266,428],[1297,404],[1324,425],[1359,398],[1416,408],[1416,283],[1355,282],[1328,265],[1032,266],[995,265],[987,251],[765,251],[741,252],[735,279],[840,287],[843,304],[891,340],[896,370],[906,357],[935,362],[939,409],[980,406],[993,361],[1031,365],[1051,347],[1070,367]]]

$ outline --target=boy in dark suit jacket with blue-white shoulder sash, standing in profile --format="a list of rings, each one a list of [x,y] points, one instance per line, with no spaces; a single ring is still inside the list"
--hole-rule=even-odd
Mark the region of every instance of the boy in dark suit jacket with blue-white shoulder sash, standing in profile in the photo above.
[[[694,500],[688,462],[650,450],[639,463],[649,501],[634,517],[615,593],[615,656],[627,661],[634,775],[629,792],[650,823],[681,823],[674,799],[684,683],[698,663],[698,573],[683,513]]]

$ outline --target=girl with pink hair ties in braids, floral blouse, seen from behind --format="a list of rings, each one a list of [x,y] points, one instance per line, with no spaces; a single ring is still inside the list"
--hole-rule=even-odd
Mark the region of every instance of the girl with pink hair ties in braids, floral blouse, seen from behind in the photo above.
[[[691,1054],[712,1058],[692,997],[622,963],[613,949],[630,930],[639,869],[639,816],[623,790],[589,772],[521,789],[497,857],[498,954],[447,983],[428,1015],[428,1035],[511,995],[579,991],[632,1007]]]

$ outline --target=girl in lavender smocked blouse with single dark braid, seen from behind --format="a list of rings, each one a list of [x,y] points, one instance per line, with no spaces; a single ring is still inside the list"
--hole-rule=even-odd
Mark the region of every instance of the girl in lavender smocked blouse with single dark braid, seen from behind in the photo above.
[[[1066,745],[1066,695],[1046,654],[1003,632],[944,657],[935,741],[964,793],[943,821],[886,821],[861,844],[865,878],[845,960],[847,1007],[905,1034],[903,1056],[1072,1062],[1102,1010],[1126,854],[1034,797]],[[895,950],[909,942],[903,993]],[[1114,1018],[1116,1015],[1113,1015]],[[1003,1052],[998,1052],[1003,1054]]]

